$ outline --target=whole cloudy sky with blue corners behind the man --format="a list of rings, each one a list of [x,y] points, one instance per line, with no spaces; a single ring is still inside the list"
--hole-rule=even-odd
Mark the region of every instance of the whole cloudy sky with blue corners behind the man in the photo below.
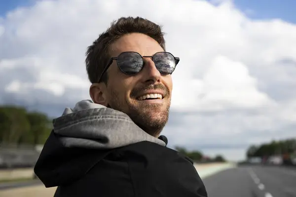
[[[0,0],[0,104],[49,116],[90,99],[85,51],[111,21],[163,26],[180,57],[169,146],[241,160],[296,137],[295,0]]]

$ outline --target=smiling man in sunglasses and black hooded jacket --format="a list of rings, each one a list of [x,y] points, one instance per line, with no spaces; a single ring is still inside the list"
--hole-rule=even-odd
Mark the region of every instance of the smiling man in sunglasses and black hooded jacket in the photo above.
[[[53,121],[35,166],[55,197],[207,197],[192,162],[166,147],[171,74],[160,26],[120,18],[88,47],[92,101]]]

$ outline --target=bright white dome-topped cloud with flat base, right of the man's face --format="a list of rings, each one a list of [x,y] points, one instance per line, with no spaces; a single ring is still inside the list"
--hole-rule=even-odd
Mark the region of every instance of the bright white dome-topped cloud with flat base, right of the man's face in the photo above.
[[[173,109],[211,111],[273,104],[268,95],[257,90],[257,80],[249,75],[247,66],[224,56],[213,57],[200,80],[179,79],[176,84]]]

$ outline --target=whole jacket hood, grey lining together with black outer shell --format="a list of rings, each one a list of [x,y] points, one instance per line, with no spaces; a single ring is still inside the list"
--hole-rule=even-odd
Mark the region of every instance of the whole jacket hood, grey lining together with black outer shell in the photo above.
[[[45,187],[78,180],[113,149],[141,141],[167,143],[166,137],[141,130],[126,114],[90,100],[66,108],[53,127],[34,168]]]

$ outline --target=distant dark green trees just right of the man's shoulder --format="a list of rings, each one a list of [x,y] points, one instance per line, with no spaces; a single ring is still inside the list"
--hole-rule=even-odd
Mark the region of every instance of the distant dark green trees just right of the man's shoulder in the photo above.
[[[187,156],[194,162],[226,162],[226,160],[223,158],[222,155],[217,155],[214,158],[207,157],[203,155],[202,152],[193,150],[193,151],[188,151],[184,147],[181,146],[176,146],[174,148],[176,151],[180,152],[181,154]]]

